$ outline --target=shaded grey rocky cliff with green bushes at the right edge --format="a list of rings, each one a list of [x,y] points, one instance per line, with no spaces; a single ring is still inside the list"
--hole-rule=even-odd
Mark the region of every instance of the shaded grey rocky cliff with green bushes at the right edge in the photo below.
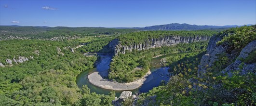
[[[230,75],[229,71],[242,64],[240,60],[245,59],[249,53],[256,51],[254,40],[256,40],[255,26],[233,28],[213,36],[209,41],[207,52],[202,56],[198,66],[198,76],[202,77],[207,71],[222,70],[227,66],[225,72]],[[247,53],[245,54],[243,51]],[[231,66],[229,66],[230,64]],[[246,68],[247,70],[252,70],[252,68]]]

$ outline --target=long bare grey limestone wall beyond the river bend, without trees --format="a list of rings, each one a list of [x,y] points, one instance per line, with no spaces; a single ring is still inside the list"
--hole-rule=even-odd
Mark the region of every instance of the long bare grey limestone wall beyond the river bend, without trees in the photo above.
[[[209,40],[209,36],[192,36],[192,37],[181,37],[181,36],[166,36],[164,38],[154,38],[141,41],[139,44],[131,44],[131,45],[121,45],[121,41],[118,39],[114,39],[110,41],[107,45],[108,49],[112,54],[118,55],[118,53],[125,54],[126,51],[133,50],[147,50],[150,48],[158,48],[162,46],[171,46],[178,43],[191,43],[197,41],[206,41]]]

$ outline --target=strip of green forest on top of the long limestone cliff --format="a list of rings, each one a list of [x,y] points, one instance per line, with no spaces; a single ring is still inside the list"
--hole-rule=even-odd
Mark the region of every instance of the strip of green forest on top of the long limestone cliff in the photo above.
[[[122,45],[131,45],[138,44],[141,41],[146,41],[148,39],[153,38],[163,38],[166,36],[185,36],[185,37],[193,37],[193,36],[212,36],[217,34],[216,31],[210,30],[196,30],[196,31],[140,31],[122,34],[117,39],[119,39]]]

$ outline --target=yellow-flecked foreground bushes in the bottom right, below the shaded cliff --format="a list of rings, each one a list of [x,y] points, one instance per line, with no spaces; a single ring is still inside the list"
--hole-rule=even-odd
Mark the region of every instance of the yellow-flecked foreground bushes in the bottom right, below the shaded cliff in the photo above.
[[[194,56],[190,59],[195,61],[196,58],[197,56]],[[190,62],[184,64],[190,64]],[[197,64],[193,64],[195,67],[197,65],[198,61]],[[137,105],[141,105],[145,99],[153,95],[157,96],[156,103],[153,104],[163,106],[217,106],[218,104],[221,106],[254,106],[256,104],[256,75],[254,73],[241,76],[239,71],[234,71],[232,77],[208,73],[208,78],[197,78],[196,71],[195,68],[190,73],[189,70],[181,68],[180,73],[174,74],[166,86],[155,87],[148,93],[142,93]]]

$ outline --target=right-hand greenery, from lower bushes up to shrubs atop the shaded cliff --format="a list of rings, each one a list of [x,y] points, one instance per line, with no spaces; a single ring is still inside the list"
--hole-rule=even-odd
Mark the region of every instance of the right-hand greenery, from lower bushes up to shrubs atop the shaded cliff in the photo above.
[[[255,29],[255,26],[251,26],[223,31],[217,36],[222,35],[224,38],[217,44],[227,44],[228,52],[233,50],[239,53],[245,45],[256,40]],[[148,105],[160,106],[255,106],[256,74],[254,70],[245,73],[243,70],[246,64],[255,63],[253,60],[255,56],[255,52],[250,53],[245,60],[242,60],[245,63],[242,63],[239,69],[231,70],[229,75],[221,73],[227,64],[215,64],[213,67],[220,68],[207,72],[204,77],[197,77],[197,66],[202,53],[189,56],[177,53],[166,59],[167,63],[172,63],[169,66],[173,72],[168,83],[155,87],[148,93],[142,93],[137,103],[142,105],[147,101]],[[176,57],[181,58],[176,59]],[[227,61],[228,58],[225,58],[217,62],[227,63]],[[153,97],[156,98],[152,99]]]

